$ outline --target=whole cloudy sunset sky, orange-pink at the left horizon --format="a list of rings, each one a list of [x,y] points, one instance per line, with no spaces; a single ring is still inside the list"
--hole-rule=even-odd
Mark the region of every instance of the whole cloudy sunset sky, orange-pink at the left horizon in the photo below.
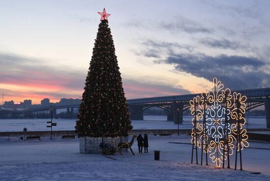
[[[4,100],[79,98],[104,7],[128,99],[270,87],[269,0],[0,0]]]

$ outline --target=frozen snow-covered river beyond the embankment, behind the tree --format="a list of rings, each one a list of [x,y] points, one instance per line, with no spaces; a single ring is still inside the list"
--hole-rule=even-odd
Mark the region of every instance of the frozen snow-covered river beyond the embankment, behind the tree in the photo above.
[[[183,124],[180,129],[191,129],[191,116],[184,116]],[[266,128],[265,117],[246,117],[247,128]],[[0,132],[23,131],[48,131],[47,121],[51,119],[0,119]],[[74,130],[75,119],[53,119],[57,126],[53,130]],[[144,115],[144,120],[133,120],[134,129],[177,129],[178,125],[173,121],[167,121],[167,116],[163,115]]]

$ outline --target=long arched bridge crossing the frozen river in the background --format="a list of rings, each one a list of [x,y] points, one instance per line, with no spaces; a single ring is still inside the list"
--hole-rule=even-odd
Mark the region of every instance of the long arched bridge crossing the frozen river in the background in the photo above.
[[[265,106],[267,128],[270,128],[270,88],[238,90],[236,92],[239,92],[247,97],[246,111],[262,105]],[[183,113],[190,107],[189,100],[193,99],[193,97],[197,95],[200,94],[129,99],[127,102],[129,104],[132,120],[143,120],[143,112],[145,110],[152,107],[159,107],[167,112],[167,120],[174,121],[175,123],[182,123]],[[53,111],[56,113],[57,109],[72,109],[79,108],[79,106],[80,105],[54,106]],[[51,107],[29,109],[22,111],[22,113],[51,113],[50,108]]]

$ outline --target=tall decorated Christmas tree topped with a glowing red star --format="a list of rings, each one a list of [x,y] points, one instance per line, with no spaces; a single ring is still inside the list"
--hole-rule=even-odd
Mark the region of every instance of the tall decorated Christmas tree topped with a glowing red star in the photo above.
[[[129,107],[122,87],[113,40],[105,8],[86,77],[76,132],[79,136],[128,136],[131,125]]]

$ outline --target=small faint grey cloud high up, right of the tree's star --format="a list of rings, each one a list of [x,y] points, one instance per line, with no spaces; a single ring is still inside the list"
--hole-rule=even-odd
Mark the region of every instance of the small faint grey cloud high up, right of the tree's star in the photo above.
[[[179,31],[183,31],[189,34],[214,32],[213,29],[205,27],[200,23],[194,22],[184,17],[176,17],[170,23],[162,22],[159,26],[174,33]]]

